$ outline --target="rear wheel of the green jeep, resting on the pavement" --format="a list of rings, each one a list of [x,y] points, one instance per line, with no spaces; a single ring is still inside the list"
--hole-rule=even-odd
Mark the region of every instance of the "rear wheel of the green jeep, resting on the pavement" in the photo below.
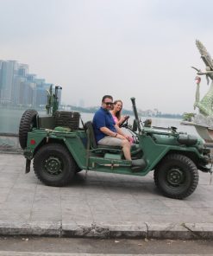
[[[76,163],[61,144],[46,144],[34,156],[34,173],[47,186],[63,187],[71,182]]]

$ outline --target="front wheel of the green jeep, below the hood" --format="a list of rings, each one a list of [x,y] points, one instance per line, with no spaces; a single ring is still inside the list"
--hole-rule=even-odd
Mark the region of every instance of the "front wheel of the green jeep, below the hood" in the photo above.
[[[163,195],[184,199],[197,188],[198,171],[189,157],[168,155],[154,170],[154,182]]]

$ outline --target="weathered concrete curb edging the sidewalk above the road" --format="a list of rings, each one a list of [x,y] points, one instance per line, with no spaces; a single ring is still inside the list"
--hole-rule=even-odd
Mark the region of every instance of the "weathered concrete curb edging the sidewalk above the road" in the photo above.
[[[61,221],[0,221],[0,235],[206,240],[213,239],[213,223],[141,223],[140,226],[135,226]]]

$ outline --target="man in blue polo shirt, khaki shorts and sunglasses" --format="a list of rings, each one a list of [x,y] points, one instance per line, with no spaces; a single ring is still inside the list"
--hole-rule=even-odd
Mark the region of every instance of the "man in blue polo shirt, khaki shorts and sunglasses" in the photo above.
[[[122,129],[116,125],[110,113],[113,105],[113,98],[110,95],[103,96],[102,106],[95,113],[93,118],[93,127],[97,144],[121,146],[126,160],[131,161],[129,143],[130,137],[122,132]]]

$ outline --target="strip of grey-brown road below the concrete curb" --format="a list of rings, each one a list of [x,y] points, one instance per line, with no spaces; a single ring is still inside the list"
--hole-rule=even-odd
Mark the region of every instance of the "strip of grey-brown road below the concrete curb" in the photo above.
[[[97,255],[97,253],[98,255],[213,254],[212,240],[0,237],[0,248],[0,256],[5,254],[16,255],[16,253],[28,255],[29,252],[32,255],[37,255],[36,253],[38,255]]]

